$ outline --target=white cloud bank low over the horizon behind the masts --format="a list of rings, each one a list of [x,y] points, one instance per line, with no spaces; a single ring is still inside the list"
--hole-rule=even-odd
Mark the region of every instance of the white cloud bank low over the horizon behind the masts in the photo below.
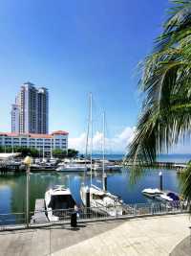
[[[132,141],[134,137],[135,128],[124,128],[120,133],[114,137],[105,138],[105,149],[108,153],[125,152],[126,147]],[[100,131],[96,131],[93,138],[93,150],[101,151],[103,134]],[[89,140],[90,146],[90,140]],[[86,133],[82,133],[77,138],[69,138],[69,148],[76,149],[84,152],[86,147]]]

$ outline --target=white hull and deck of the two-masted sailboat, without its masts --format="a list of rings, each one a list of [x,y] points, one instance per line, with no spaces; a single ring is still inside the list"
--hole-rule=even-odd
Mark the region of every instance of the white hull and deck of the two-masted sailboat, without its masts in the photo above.
[[[82,186],[80,197],[84,205],[87,205],[87,193],[90,193],[90,207],[94,212],[113,217],[123,214],[123,201],[117,196],[103,191],[95,185]]]

